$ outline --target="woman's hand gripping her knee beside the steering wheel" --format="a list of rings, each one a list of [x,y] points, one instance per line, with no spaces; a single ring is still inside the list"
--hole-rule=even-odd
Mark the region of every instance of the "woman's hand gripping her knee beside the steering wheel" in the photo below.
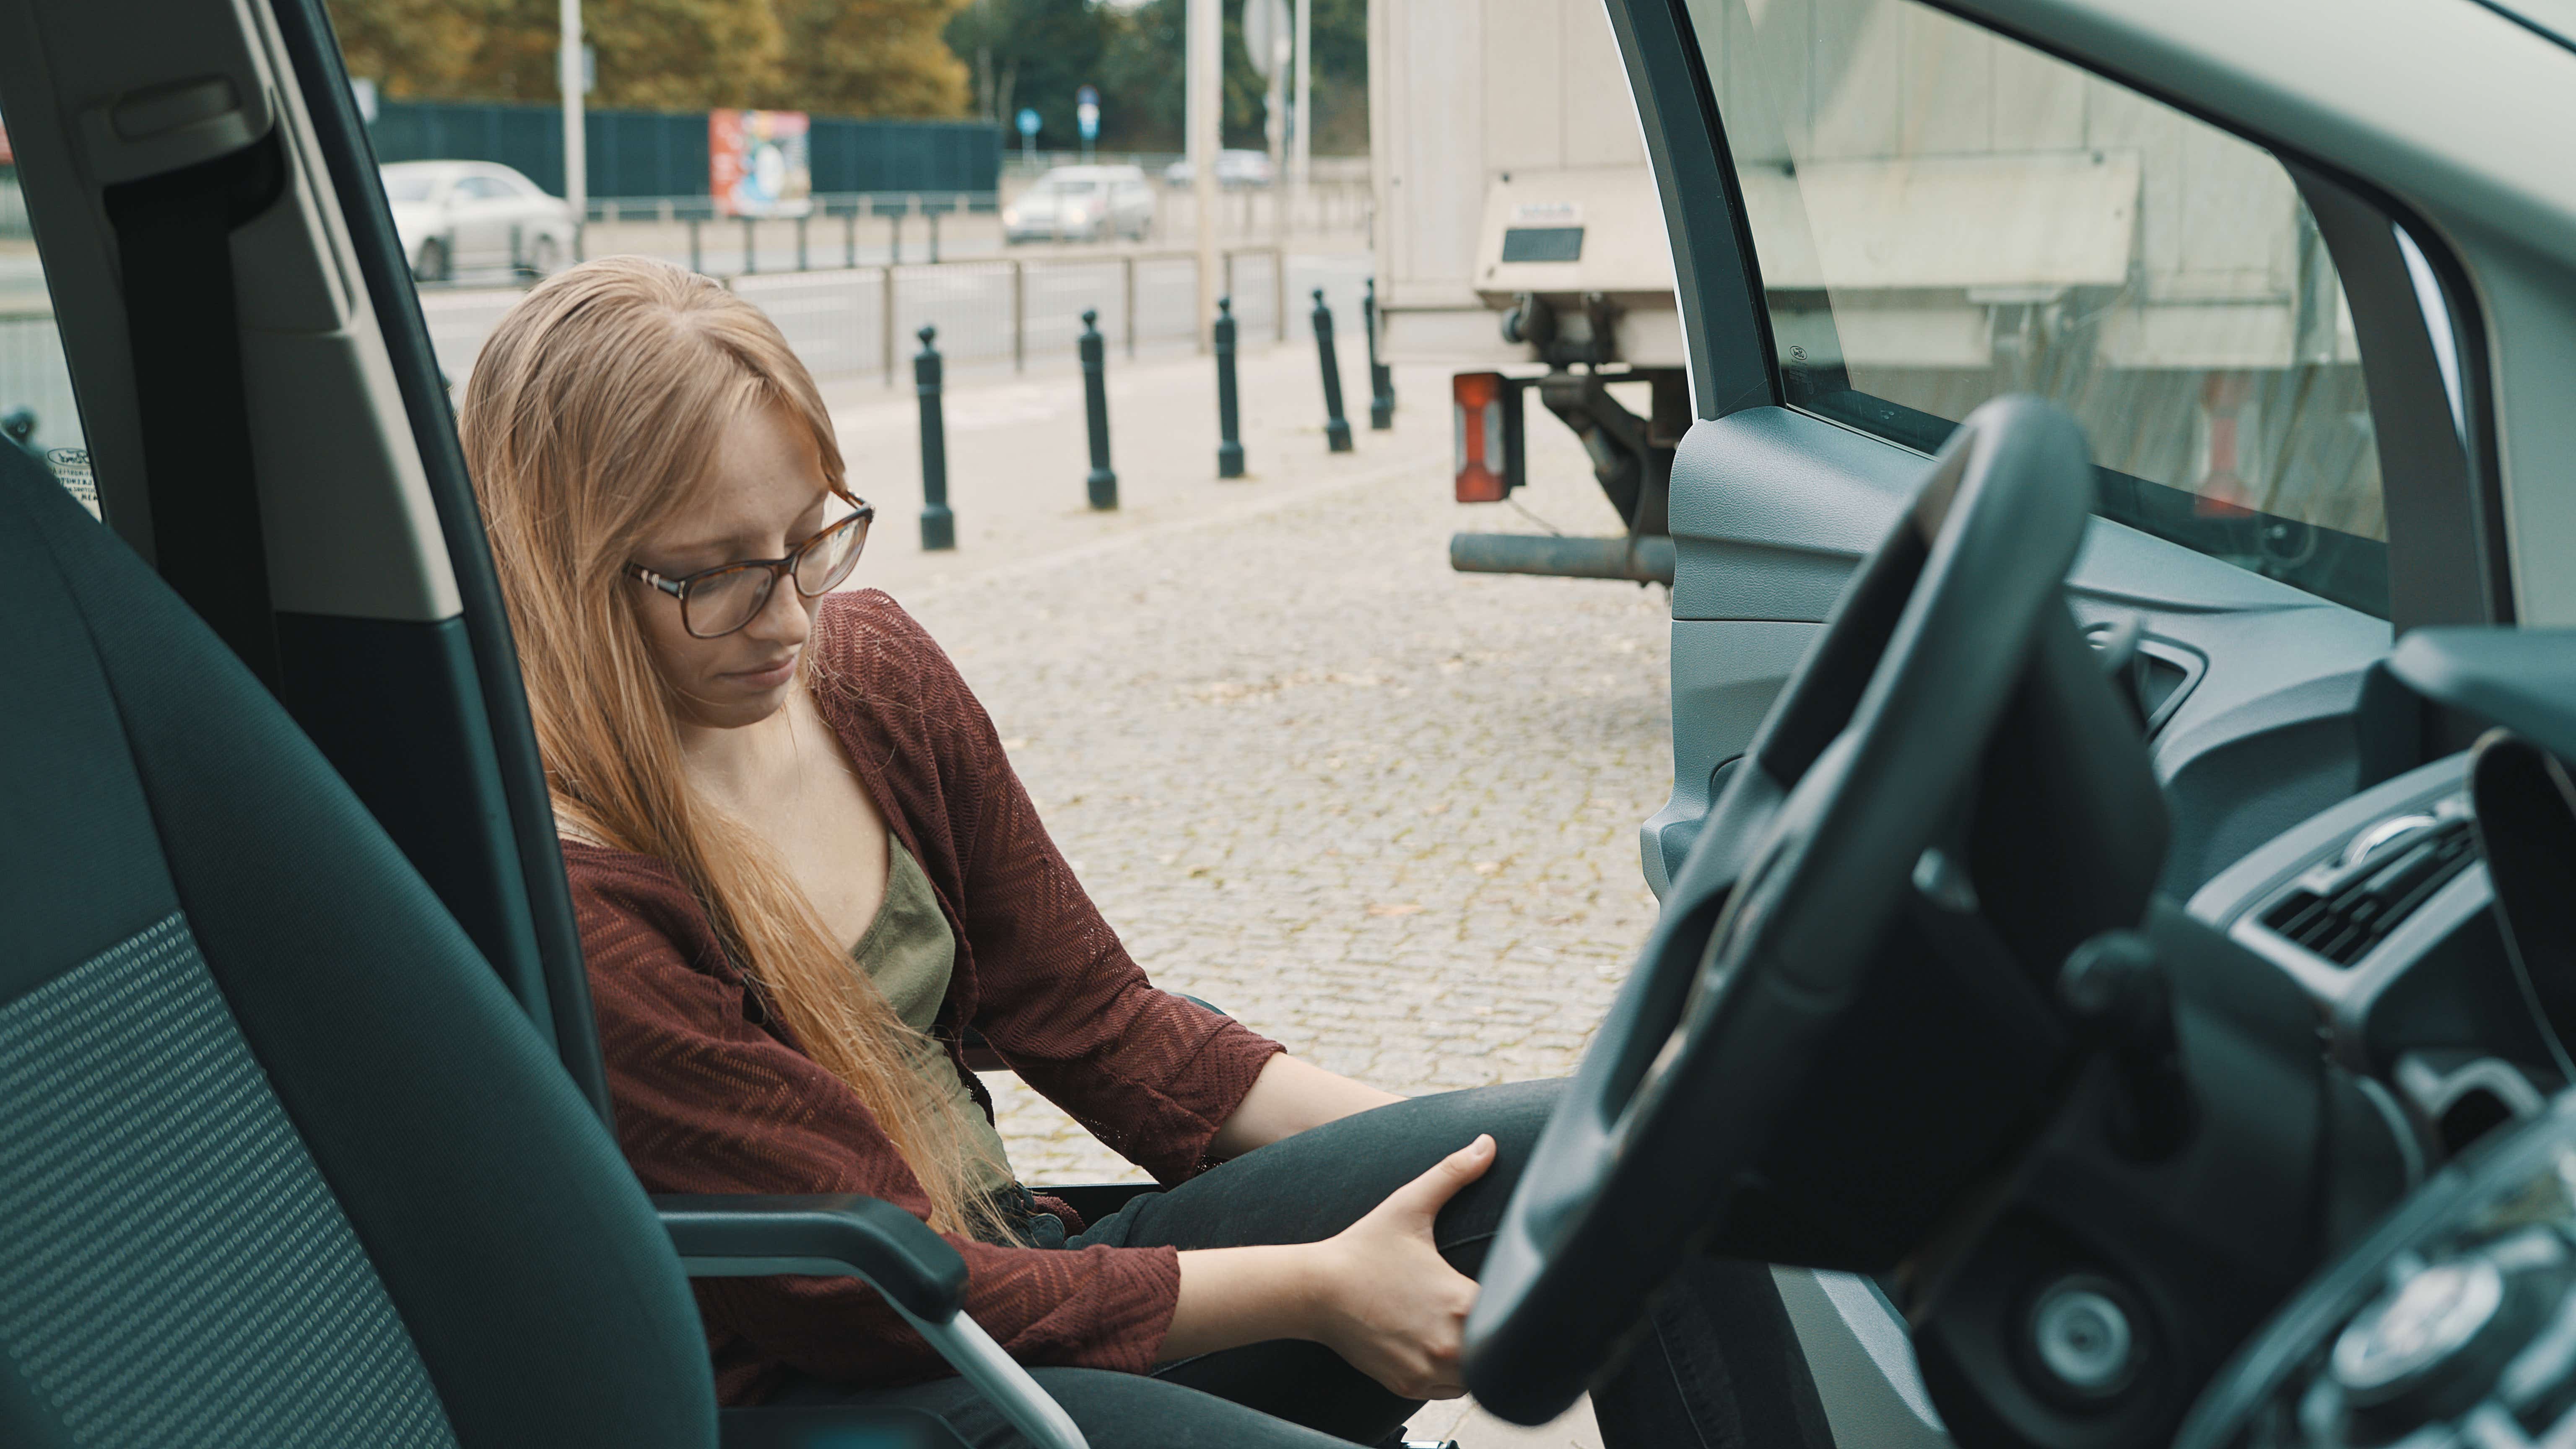
[[[1432,1220],[1492,1165],[1494,1140],[1476,1137],[1316,1243],[1324,1281],[1314,1336],[1396,1397],[1466,1392],[1458,1348],[1476,1279],[1432,1245]]]

